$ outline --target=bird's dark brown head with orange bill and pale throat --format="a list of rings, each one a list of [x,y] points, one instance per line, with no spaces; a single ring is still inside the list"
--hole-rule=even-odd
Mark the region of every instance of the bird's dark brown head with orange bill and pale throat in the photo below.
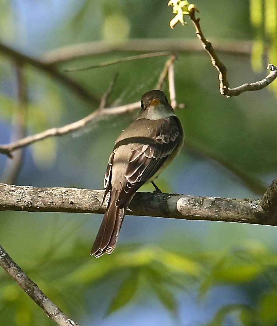
[[[158,120],[173,116],[174,111],[164,92],[153,90],[145,93],[141,98],[141,111],[138,119]]]

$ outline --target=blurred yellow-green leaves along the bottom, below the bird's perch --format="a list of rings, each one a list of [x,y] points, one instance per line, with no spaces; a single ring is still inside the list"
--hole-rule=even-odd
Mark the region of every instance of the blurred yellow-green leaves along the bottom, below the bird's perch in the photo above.
[[[185,253],[171,251],[158,246],[121,246],[111,256],[88,260],[87,247],[75,243],[70,252],[55,251],[55,244],[39,259],[29,262],[25,272],[49,298],[66,313],[82,319],[87,294],[108,279],[117,280],[114,295],[105,299],[104,314],[111,314],[122,307],[134,304],[141,297],[153,293],[157,300],[171,312],[173,320],[178,318],[178,293],[193,293],[198,289],[200,302],[213,287],[237,284],[249,287],[246,294],[251,298],[251,287],[263,282],[252,304],[228,304],[220,308],[207,326],[224,325],[224,320],[233,311],[242,325],[275,325],[277,322],[277,254],[266,250],[262,244],[245,246],[233,252],[201,251]],[[220,258],[219,258],[220,257]],[[74,260],[74,266],[70,263]],[[203,292],[205,289],[205,293]],[[52,325],[43,312],[10,279],[0,278],[0,314],[4,325]],[[72,294],[72,295],[70,295]],[[14,321],[11,320],[11,310]],[[38,322],[39,320],[39,322]]]

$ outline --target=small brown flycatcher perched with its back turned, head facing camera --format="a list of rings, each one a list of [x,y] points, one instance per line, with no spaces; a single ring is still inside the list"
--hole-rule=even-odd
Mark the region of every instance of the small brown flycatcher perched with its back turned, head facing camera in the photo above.
[[[107,209],[90,255],[111,254],[127,207],[135,192],[151,182],[172,162],[184,142],[184,129],[164,92],[152,90],[141,98],[141,111],[118,136],[104,177]]]

